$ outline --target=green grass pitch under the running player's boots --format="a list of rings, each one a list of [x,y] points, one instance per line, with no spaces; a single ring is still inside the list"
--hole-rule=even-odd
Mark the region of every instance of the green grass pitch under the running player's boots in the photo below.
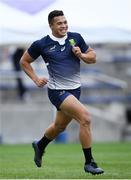
[[[31,145],[0,145],[0,179],[131,179],[131,142],[96,143],[93,154],[102,175],[84,172],[79,144],[51,143],[41,168],[34,165]]]

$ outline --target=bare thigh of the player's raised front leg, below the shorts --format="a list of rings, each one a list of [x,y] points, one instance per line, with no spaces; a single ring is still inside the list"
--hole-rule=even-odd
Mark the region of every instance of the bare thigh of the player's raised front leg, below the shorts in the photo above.
[[[73,95],[68,96],[61,104],[60,109],[65,114],[79,121],[87,113],[86,107]]]

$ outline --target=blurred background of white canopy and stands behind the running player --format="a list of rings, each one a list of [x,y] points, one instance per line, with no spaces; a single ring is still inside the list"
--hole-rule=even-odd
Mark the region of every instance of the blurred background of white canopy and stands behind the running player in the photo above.
[[[39,139],[54,118],[47,87],[37,88],[19,66],[25,49],[50,33],[54,9],[97,54],[95,65],[81,63],[81,102],[92,115],[94,142],[131,141],[131,1],[0,0],[0,143]],[[48,77],[41,58],[33,67]],[[75,121],[56,142],[78,142]]]

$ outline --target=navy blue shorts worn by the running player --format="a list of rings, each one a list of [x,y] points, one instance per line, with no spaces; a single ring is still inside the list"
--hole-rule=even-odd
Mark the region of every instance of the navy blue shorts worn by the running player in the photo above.
[[[75,96],[77,99],[80,98],[81,88],[77,89],[69,89],[69,90],[55,90],[48,88],[48,97],[51,103],[56,107],[57,110],[60,110],[59,107],[61,103],[65,100],[65,98],[69,95]]]

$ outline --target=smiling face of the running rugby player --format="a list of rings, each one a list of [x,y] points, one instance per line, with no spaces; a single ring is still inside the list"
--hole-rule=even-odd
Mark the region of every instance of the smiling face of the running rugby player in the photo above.
[[[52,34],[55,37],[61,38],[64,37],[68,30],[68,24],[65,16],[56,16],[50,24]]]

